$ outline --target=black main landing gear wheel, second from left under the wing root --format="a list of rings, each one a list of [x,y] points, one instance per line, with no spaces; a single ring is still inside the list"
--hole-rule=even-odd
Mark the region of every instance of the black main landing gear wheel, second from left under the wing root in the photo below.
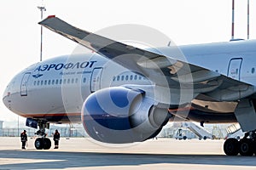
[[[241,156],[253,156],[253,139],[241,139],[239,143],[239,153]]]

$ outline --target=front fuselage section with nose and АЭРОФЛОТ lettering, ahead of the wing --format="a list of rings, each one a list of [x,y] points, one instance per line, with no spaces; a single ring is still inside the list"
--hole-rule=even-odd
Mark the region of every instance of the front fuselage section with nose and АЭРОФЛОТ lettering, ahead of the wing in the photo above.
[[[98,54],[67,55],[21,71],[6,88],[3,102],[20,116],[79,122],[87,96],[100,88],[127,83],[150,82]]]

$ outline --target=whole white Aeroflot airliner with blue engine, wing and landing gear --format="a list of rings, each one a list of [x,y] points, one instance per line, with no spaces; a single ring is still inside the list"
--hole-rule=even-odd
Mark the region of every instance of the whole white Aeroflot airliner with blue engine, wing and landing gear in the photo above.
[[[46,59],[20,71],[3,103],[38,128],[48,150],[49,123],[82,122],[92,139],[125,144],[154,138],[170,121],[239,122],[227,156],[256,154],[256,40],[136,48],[71,26],[55,15],[39,22],[92,50]],[[185,57],[183,57],[185,56]],[[171,147],[172,148],[172,147]]]

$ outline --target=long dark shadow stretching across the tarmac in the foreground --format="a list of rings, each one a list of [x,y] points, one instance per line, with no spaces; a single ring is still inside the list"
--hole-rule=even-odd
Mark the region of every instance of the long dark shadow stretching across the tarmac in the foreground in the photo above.
[[[175,163],[198,165],[256,166],[255,156],[116,154],[64,151],[1,150],[0,158],[29,159],[44,162],[3,163],[1,168],[47,169],[68,167],[139,166]],[[47,161],[49,160],[49,161]],[[1,159],[0,159],[1,164]]]

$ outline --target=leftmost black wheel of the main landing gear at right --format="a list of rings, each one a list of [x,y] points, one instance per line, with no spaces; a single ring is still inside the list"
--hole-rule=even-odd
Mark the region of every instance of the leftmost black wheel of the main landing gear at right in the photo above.
[[[237,139],[226,139],[224,142],[224,152],[227,156],[237,156],[239,152],[239,142]]]

